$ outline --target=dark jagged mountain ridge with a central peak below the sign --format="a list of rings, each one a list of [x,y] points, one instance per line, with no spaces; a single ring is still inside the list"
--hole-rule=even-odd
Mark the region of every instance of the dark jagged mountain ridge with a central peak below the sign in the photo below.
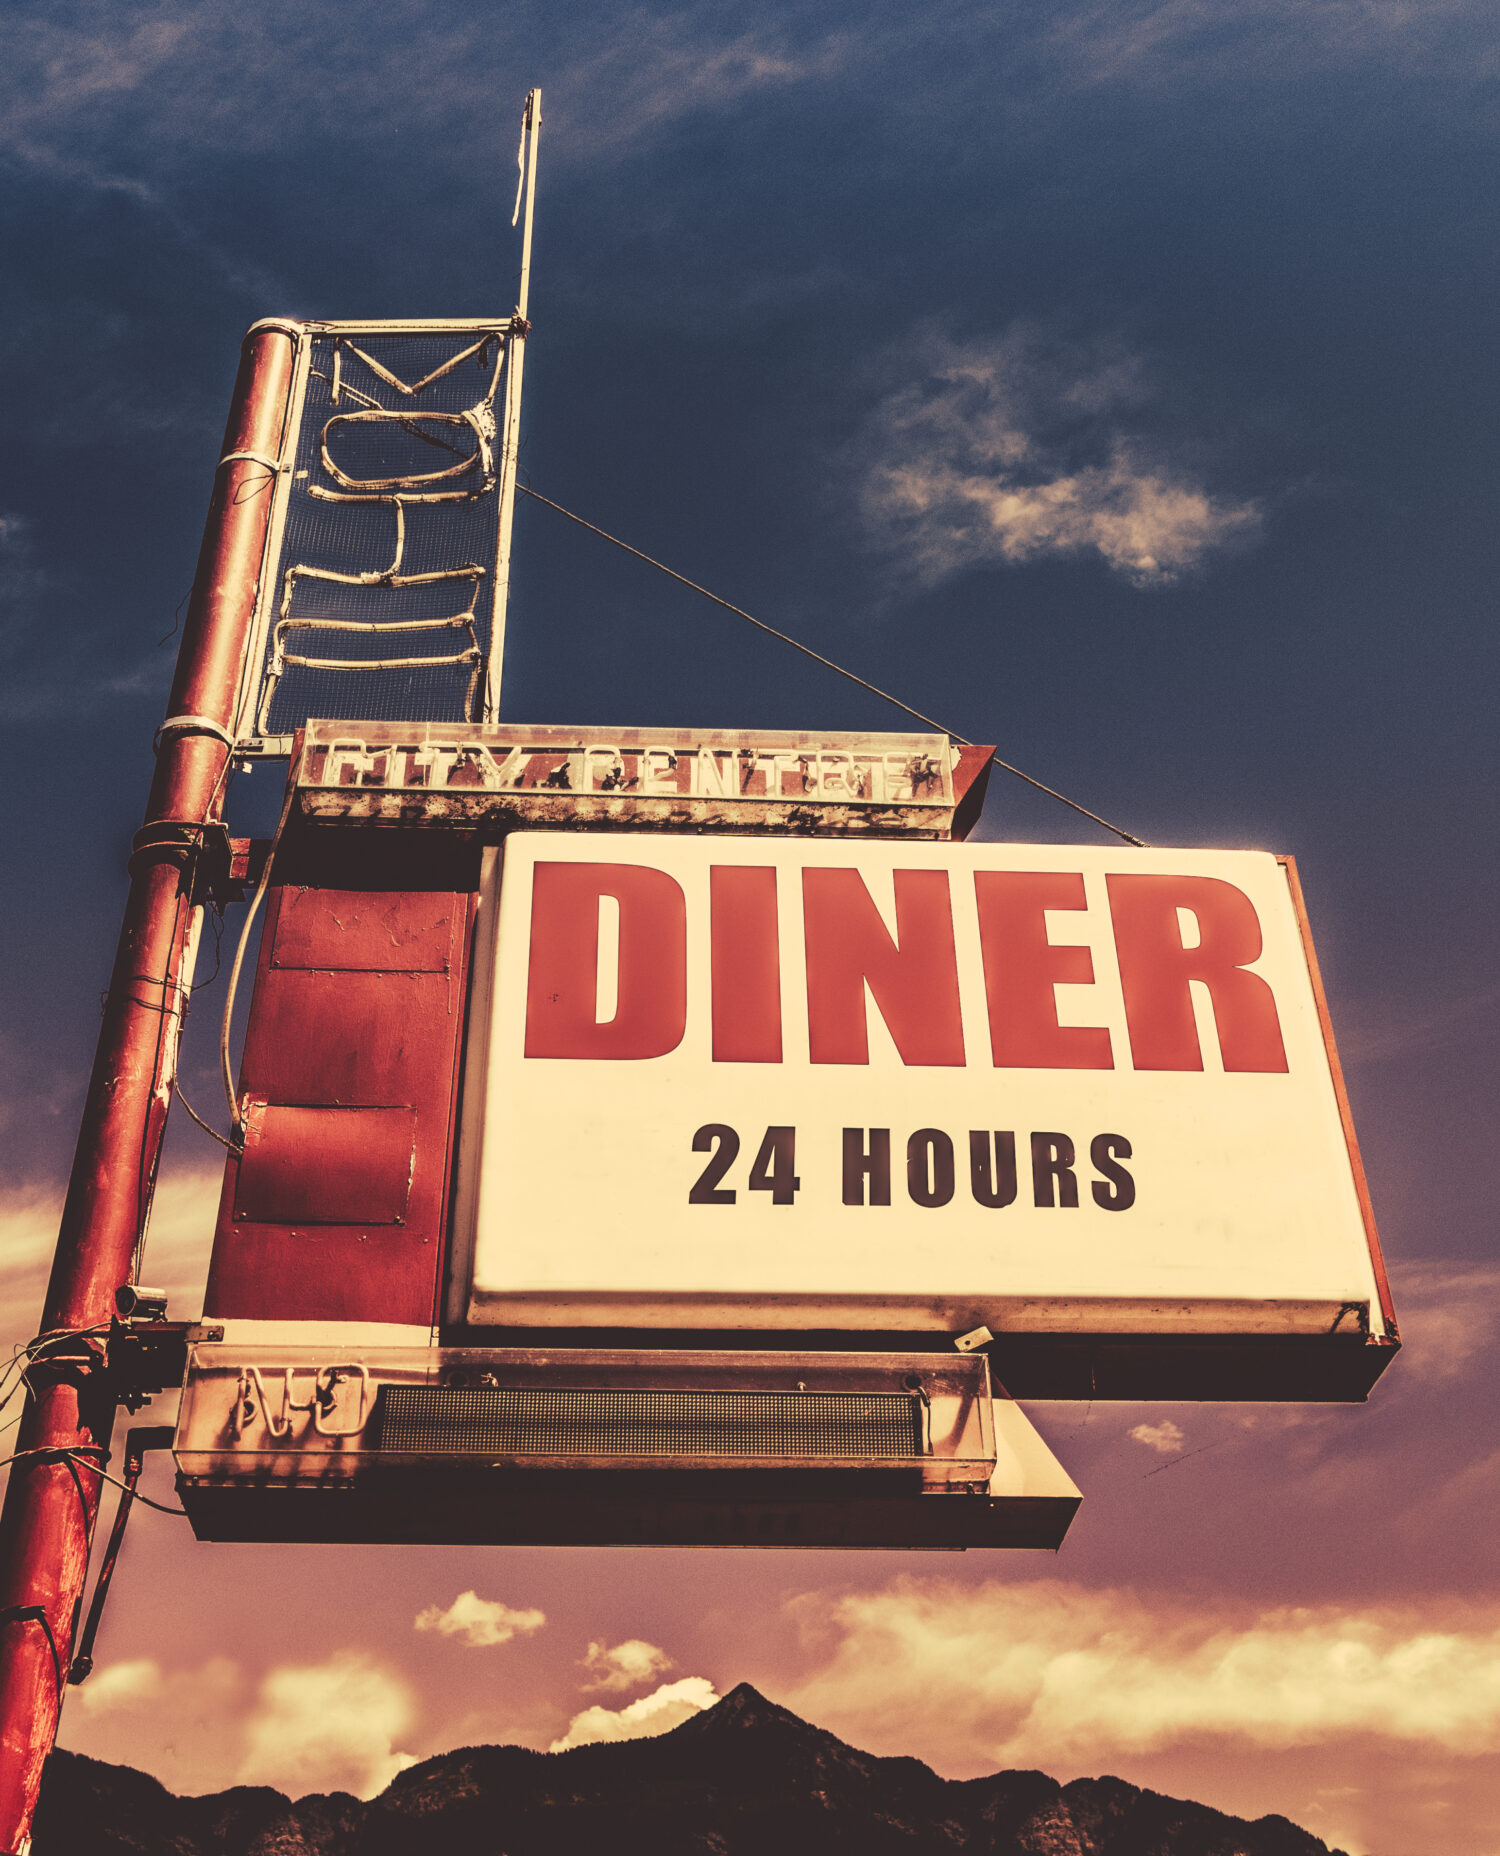
[[[1344,1856],[1119,1778],[939,1778],[809,1726],[741,1683],[655,1739],[464,1746],[368,1804],[236,1785],[178,1798],[58,1750],[32,1856]]]

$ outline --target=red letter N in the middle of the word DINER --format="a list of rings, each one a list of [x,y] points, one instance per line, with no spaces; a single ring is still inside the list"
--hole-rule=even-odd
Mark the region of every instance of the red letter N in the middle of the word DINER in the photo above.
[[[869,986],[902,1063],[963,1063],[947,870],[897,870],[897,934],[858,870],[802,872],[813,1063],[869,1063]]]

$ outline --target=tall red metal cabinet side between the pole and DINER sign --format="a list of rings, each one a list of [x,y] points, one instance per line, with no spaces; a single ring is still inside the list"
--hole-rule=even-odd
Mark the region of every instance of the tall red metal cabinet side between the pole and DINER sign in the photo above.
[[[479,854],[349,839],[288,846],[267,896],[239,1073],[262,1140],[225,1173],[215,1320],[434,1320]]]

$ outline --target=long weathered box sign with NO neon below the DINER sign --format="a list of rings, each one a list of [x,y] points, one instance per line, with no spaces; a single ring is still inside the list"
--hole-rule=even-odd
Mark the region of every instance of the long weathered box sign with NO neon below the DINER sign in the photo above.
[[[1054,1548],[1079,1507],[982,1355],[319,1338],[193,1347],[199,1539]]]

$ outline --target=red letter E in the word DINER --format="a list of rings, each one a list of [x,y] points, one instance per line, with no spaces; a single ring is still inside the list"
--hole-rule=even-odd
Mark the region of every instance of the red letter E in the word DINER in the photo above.
[[[1110,1034],[1058,1025],[1058,986],[1092,986],[1086,947],[1053,947],[1047,909],[1088,906],[1077,870],[975,870],[989,1049],[997,1069],[1114,1069]]]

